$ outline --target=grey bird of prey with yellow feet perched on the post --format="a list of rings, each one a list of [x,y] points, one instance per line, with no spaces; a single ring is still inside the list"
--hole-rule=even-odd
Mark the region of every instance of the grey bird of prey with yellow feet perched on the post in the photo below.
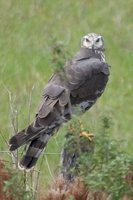
[[[52,75],[33,122],[9,140],[11,152],[28,145],[18,163],[21,170],[34,168],[51,136],[72,118],[76,106],[84,113],[102,95],[110,75],[104,46],[103,36],[86,34],[81,38],[79,52]]]

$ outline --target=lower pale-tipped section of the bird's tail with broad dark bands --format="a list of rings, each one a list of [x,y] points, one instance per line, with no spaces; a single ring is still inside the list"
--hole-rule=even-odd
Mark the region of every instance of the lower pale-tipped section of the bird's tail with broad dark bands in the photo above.
[[[35,166],[40,154],[42,153],[43,149],[47,145],[47,142],[50,137],[51,135],[45,134],[41,136],[40,138],[33,140],[30,143],[26,154],[19,162],[20,169],[22,170],[26,169],[27,171],[29,171]]]

